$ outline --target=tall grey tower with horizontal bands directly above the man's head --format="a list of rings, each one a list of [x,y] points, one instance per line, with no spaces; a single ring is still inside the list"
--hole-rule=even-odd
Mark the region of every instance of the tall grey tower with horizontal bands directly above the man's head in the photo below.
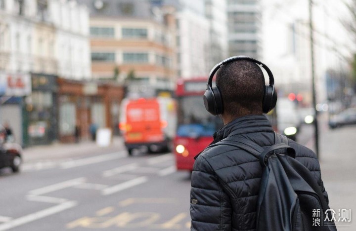
[[[261,0],[227,0],[229,56],[260,59]]]

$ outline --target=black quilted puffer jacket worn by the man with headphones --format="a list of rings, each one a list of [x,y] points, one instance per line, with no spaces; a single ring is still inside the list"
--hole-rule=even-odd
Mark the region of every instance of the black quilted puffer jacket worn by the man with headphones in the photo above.
[[[250,139],[265,148],[274,144],[266,116],[244,116],[214,134],[214,142],[227,136]],[[230,138],[229,138],[230,139]],[[308,148],[288,140],[296,159],[314,175],[328,202],[320,165]],[[204,150],[195,160],[191,176],[190,216],[193,231],[254,231],[262,167],[252,154],[227,145]]]

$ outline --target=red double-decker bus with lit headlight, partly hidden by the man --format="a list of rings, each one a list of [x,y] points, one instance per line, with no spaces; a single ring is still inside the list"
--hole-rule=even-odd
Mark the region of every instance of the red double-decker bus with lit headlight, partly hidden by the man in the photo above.
[[[203,95],[207,77],[179,79],[177,82],[178,126],[174,138],[174,152],[178,170],[193,170],[194,156],[212,141],[213,134],[223,126],[218,116],[204,107]]]

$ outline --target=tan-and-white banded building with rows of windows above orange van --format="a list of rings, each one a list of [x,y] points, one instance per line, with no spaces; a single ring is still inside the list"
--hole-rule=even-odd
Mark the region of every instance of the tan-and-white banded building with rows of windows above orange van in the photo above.
[[[173,90],[177,62],[172,7],[155,7],[142,0],[81,2],[90,9],[94,78],[129,80],[129,87],[142,88],[141,93]]]

